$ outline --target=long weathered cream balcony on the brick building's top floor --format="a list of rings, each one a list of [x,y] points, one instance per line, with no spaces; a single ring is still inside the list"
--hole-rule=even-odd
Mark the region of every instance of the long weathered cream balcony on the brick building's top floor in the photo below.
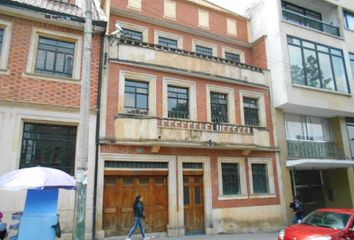
[[[111,39],[109,60],[203,79],[269,86],[268,72],[255,66],[131,39]]]

